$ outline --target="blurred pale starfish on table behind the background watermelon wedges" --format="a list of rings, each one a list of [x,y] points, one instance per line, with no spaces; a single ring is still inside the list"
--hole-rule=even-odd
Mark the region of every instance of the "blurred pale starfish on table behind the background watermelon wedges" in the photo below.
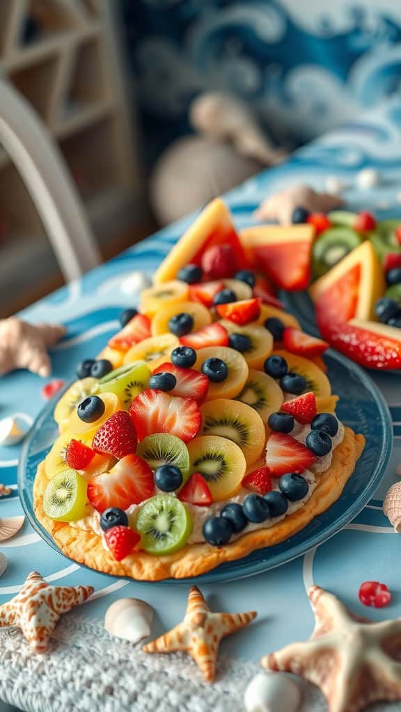
[[[290,225],[295,208],[305,208],[310,213],[327,213],[343,204],[344,201],[337,195],[318,193],[300,183],[264,200],[254,217],[257,220],[276,220],[282,225]]]

